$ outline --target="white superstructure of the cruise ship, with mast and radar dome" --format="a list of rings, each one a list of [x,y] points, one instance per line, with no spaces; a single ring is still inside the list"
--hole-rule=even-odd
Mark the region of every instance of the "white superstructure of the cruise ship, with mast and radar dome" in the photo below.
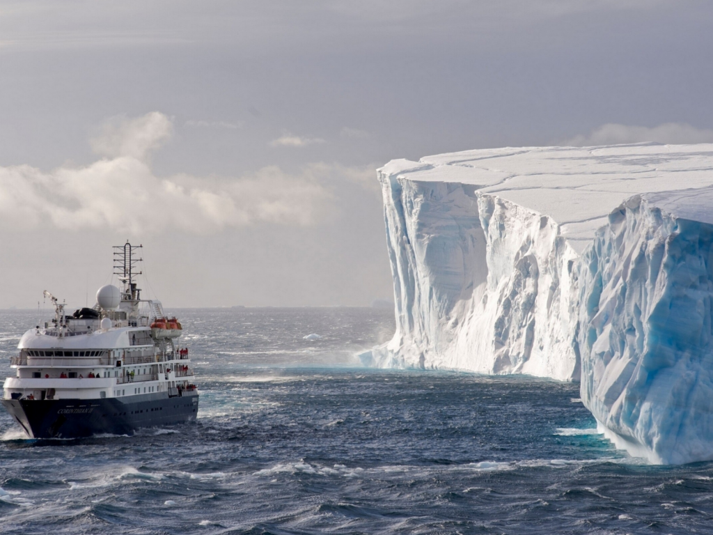
[[[115,253],[123,289],[107,285],[97,304],[67,315],[55,305],[53,320],[25,332],[15,377],[4,383],[4,399],[106,399],[153,392],[195,390],[188,350],[180,350],[181,326],[168,320],[158,300],[140,299],[133,258],[140,246],[126,243]]]

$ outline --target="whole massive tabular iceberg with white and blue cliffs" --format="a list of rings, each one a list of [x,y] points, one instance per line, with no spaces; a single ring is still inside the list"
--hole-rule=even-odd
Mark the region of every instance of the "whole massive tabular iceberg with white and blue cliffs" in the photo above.
[[[379,170],[396,333],[366,365],[581,380],[620,447],[713,459],[713,145]]]

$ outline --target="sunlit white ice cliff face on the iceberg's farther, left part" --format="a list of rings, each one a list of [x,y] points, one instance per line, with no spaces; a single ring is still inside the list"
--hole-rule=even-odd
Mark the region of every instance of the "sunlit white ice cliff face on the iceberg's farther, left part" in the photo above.
[[[578,374],[557,223],[470,185],[382,180],[398,322],[379,365]]]

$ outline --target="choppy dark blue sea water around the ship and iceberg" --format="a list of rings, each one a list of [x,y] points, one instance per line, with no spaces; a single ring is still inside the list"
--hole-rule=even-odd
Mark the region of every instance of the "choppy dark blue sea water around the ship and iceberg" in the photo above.
[[[578,384],[369,370],[388,310],[170,310],[198,422],[24,439],[0,414],[0,533],[711,533],[713,463],[617,451]],[[0,374],[36,312],[0,312]],[[307,335],[319,338],[305,340]]]

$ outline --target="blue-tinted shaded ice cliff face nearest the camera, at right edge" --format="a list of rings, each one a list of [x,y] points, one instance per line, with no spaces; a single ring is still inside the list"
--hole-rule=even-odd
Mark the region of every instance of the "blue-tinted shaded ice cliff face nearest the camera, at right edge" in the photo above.
[[[686,193],[713,206],[708,188]],[[713,225],[668,200],[630,198],[597,231],[579,266],[579,346],[582,399],[605,434],[679,464],[713,458]]]

